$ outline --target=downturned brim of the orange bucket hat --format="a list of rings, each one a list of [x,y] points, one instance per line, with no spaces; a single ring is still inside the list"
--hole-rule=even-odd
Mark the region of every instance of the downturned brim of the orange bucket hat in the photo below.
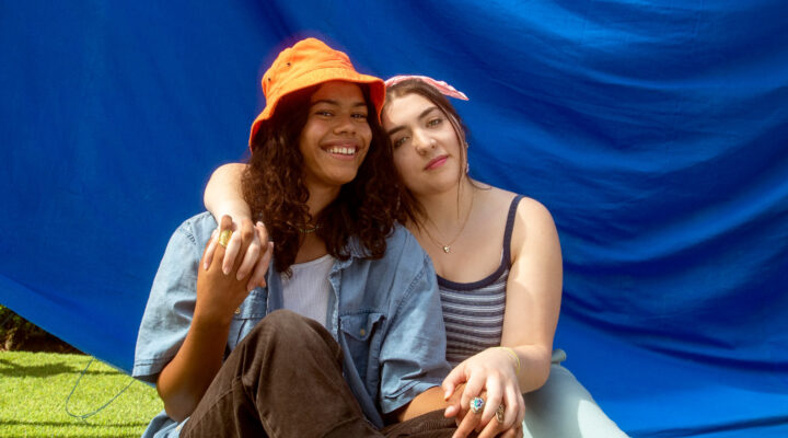
[[[385,83],[382,79],[375,78],[373,76],[348,71],[347,68],[329,67],[311,70],[299,77],[297,80],[291,81],[289,83],[287,92],[280,93],[277,100],[275,100],[274,102],[266,102],[266,107],[252,124],[248,141],[250,148],[252,148],[252,140],[257,134],[260,124],[269,119],[274,115],[274,112],[276,112],[279,102],[283,97],[297,91],[331,81],[345,81],[368,85],[370,91],[370,100],[372,101],[372,105],[375,107],[375,115],[378,117],[378,120],[380,120],[381,111],[383,110],[383,102],[385,101]]]

